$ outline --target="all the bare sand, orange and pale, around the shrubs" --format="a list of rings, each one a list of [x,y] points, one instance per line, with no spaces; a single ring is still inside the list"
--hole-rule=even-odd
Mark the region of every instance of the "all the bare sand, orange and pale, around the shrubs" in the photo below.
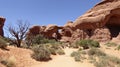
[[[118,40],[113,40],[115,43],[119,43]],[[74,58],[70,57],[70,54],[77,49],[65,48],[65,55],[55,55],[52,56],[52,60],[48,62],[39,62],[31,58],[32,51],[23,48],[8,47],[9,51],[0,49],[0,56],[14,56],[16,58],[16,67],[95,67],[93,64],[89,63],[88,60],[83,62],[75,62]],[[102,51],[106,54],[119,57],[120,51],[115,50],[115,47],[107,47],[101,44]],[[5,67],[0,64],[0,67]]]

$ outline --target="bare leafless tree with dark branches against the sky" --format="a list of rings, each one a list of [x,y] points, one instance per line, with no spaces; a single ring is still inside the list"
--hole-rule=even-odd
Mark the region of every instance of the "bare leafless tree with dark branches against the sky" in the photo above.
[[[8,31],[12,38],[12,42],[17,46],[21,47],[22,40],[26,37],[26,32],[29,29],[30,24],[28,22],[23,23],[22,20],[19,20],[15,26],[9,26]]]

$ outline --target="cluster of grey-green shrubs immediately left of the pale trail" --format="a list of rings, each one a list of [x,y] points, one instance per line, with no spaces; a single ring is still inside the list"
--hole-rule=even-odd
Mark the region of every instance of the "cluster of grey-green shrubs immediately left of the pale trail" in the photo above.
[[[46,44],[35,44],[32,46],[33,54],[32,57],[37,61],[48,61],[51,59],[51,55],[64,55],[65,52],[62,50],[59,42],[50,42]]]

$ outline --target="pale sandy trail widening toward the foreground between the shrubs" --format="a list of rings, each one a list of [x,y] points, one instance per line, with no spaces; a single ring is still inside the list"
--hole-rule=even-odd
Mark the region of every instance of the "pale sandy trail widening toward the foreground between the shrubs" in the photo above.
[[[75,51],[75,49],[66,48],[65,55],[54,56],[49,62],[41,62],[41,64],[36,64],[31,67],[94,67],[88,62],[75,62],[74,58],[70,57],[73,51]]]

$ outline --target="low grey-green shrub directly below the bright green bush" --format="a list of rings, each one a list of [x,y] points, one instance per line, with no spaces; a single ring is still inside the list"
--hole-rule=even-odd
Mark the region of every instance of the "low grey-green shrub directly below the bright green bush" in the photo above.
[[[105,56],[106,54],[97,48],[91,48],[88,50],[89,56]]]

